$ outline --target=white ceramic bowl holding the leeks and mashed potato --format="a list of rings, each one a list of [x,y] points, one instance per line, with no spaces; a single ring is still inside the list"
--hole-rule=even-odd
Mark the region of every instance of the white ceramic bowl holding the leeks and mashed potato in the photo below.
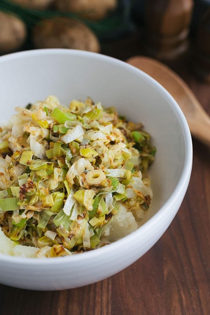
[[[117,242],[80,255],[41,260],[0,255],[0,282],[24,289],[70,289],[105,279],[144,255],[173,220],[190,180],[190,131],[172,96],[147,74],[122,61],[67,49],[0,57],[0,82],[1,122],[11,117],[15,106],[48,95],[56,95],[66,105],[73,98],[91,96],[143,122],[157,147],[150,168],[154,198],[143,226]]]

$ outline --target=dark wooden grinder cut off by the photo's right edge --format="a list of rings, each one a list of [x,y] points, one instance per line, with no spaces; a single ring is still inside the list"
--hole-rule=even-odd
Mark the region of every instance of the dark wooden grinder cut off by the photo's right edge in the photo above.
[[[210,83],[210,9],[198,27],[195,55],[194,71],[204,82]]]

